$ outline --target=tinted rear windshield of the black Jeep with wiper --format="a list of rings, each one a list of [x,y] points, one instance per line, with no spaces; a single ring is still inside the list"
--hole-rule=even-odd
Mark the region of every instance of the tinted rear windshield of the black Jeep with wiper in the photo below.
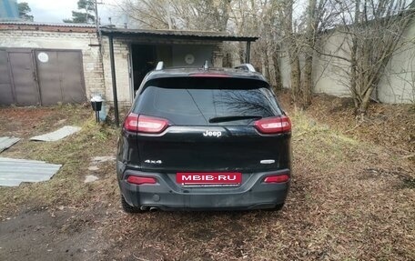
[[[169,78],[150,82],[133,111],[174,125],[248,125],[281,115],[267,83],[247,79]]]

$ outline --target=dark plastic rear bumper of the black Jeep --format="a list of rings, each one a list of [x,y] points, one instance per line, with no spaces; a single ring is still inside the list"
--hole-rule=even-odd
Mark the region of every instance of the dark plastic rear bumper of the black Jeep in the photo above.
[[[177,184],[175,175],[126,170],[118,180],[121,193],[131,206],[157,207],[162,210],[243,210],[274,208],[285,202],[289,180],[280,184],[265,184],[269,175],[288,174],[289,170],[243,174],[238,187],[186,187]],[[132,185],[127,176],[151,176],[155,185]]]

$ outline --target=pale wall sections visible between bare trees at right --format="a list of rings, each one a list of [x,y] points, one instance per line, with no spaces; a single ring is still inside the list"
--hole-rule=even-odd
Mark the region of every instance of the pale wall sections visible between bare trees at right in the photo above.
[[[323,52],[326,54],[349,56],[349,47],[345,43],[346,35],[331,31],[324,36]],[[390,59],[380,79],[378,99],[386,104],[415,102],[415,21],[408,27],[400,40],[400,48]],[[281,55],[280,68],[282,85],[290,88],[290,65],[287,52]],[[301,61],[302,62],[302,61]],[[300,63],[301,65],[303,63]],[[327,55],[314,56],[313,77],[314,92],[336,96],[350,96],[349,63]]]

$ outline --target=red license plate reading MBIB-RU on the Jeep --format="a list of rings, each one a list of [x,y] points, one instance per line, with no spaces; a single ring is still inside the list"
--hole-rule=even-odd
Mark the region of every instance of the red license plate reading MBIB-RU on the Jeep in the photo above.
[[[238,186],[242,182],[242,174],[239,172],[178,172],[176,182],[184,186]]]

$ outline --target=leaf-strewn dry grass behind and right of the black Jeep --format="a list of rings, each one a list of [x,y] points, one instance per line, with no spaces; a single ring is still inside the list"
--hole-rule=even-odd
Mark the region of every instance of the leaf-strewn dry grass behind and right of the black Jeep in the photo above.
[[[300,111],[291,115],[295,178],[282,212],[119,214],[105,229],[116,249],[106,254],[127,260],[413,260],[415,191],[400,176],[410,163]]]

